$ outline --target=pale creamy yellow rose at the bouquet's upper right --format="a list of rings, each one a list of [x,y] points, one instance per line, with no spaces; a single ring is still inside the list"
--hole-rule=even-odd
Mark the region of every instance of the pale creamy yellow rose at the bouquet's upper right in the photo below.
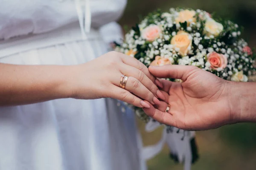
[[[205,23],[204,32],[207,36],[213,35],[218,36],[223,31],[221,23],[217,23],[215,20],[209,18]]]

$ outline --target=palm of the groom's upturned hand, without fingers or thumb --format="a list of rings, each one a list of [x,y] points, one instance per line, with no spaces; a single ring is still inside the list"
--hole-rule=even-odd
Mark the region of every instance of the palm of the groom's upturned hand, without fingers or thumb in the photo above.
[[[209,72],[196,71],[185,82],[172,83],[167,102],[172,115],[180,121],[178,126],[202,130],[221,126],[230,119],[229,112],[223,110],[228,103],[222,98],[222,81]]]

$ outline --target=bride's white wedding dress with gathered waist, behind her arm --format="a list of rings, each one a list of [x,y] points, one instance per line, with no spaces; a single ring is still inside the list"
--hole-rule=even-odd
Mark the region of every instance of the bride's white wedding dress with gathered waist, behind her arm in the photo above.
[[[0,62],[74,65],[106,53],[126,0],[85,3],[1,1]],[[143,170],[137,136],[134,113],[114,99],[0,107],[0,170]]]

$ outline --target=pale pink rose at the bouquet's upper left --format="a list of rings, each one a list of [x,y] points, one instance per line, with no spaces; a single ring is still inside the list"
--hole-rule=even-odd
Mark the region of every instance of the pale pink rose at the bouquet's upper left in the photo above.
[[[160,37],[162,30],[157,25],[150,25],[142,30],[142,37],[148,41],[154,41]]]

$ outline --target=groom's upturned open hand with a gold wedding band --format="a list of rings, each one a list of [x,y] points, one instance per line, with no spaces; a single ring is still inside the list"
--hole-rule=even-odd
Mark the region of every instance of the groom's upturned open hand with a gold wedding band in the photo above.
[[[143,108],[153,119],[186,130],[212,129],[236,119],[228,97],[231,82],[194,66],[164,65],[149,71],[155,77],[183,81],[162,80],[166,101],[156,108],[150,103],[150,108]]]

